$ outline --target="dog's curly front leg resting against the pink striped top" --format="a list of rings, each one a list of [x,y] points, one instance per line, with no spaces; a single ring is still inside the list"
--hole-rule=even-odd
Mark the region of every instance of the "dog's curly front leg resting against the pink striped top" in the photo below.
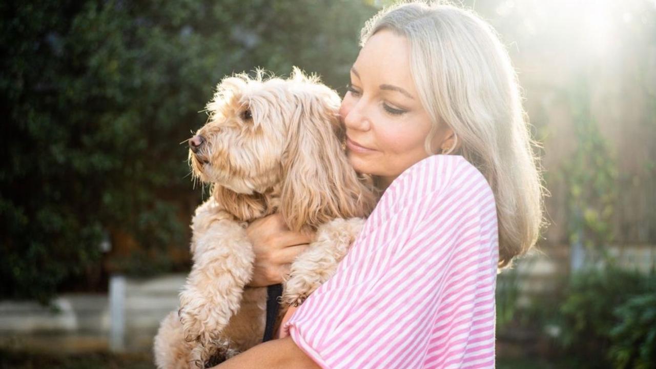
[[[300,305],[337,269],[351,244],[356,240],[364,220],[335,219],[317,230],[317,240],[303,251],[291,265],[289,279],[284,284],[283,303]]]

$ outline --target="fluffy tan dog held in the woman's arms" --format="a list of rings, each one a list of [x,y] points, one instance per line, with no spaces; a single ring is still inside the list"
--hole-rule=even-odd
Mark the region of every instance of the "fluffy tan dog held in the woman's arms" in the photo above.
[[[155,337],[158,368],[203,366],[262,340],[266,288],[246,288],[254,254],[245,227],[279,212],[291,230],[316,230],[283,284],[280,316],[335,272],[375,205],[371,181],[342,150],[335,91],[297,68],[289,79],[258,71],[226,77],[190,139],[195,177],[211,196],[192,220],[194,266]]]

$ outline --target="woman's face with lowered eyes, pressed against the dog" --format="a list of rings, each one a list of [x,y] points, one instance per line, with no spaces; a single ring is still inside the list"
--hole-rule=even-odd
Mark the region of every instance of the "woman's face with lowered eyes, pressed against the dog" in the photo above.
[[[348,159],[359,173],[389,185],[426,158],[430,118],[410,74],[403,36],[381,30],[369,38],[351,69],[340,117],[346,126]]]

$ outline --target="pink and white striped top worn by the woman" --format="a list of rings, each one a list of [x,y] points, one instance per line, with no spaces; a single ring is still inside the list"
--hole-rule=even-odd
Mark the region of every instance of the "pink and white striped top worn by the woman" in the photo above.
[[[462,156],[397,177],[284,329],[321,368],[493,368],[497,209]]]

